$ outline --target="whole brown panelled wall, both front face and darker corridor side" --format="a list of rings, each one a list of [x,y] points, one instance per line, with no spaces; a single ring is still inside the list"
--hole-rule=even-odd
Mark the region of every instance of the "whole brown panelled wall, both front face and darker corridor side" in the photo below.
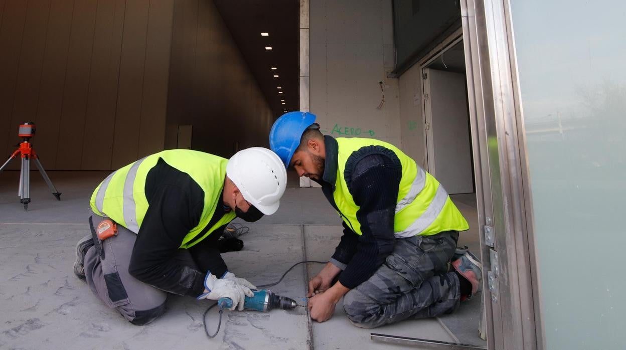
[[[0,152],[24,120],[38,124],[48,170],[114,170],[176,147],[179,125],[224,157],[267,147],[269,105],[212,1],[0,0],[0,11]]]

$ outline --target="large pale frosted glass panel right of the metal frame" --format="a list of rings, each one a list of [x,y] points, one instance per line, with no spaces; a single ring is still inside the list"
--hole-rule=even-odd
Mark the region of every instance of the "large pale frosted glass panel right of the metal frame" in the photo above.
[[[546,345],[623,349],[626,3],[511,0],[511,13]]]

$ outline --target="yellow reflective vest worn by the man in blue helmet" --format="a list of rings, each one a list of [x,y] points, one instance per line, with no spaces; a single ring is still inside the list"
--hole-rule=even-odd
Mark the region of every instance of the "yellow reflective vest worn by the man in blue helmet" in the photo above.
[[[467,221],[450,200],[444,187],[413,159],[390,143],[369,138],[337,138],[337,181],[333,197],[339,215],[349,227],[361,235],[361,223],[356,218],[359,207],[354,203],[344,178],[346,163],[354,152],[367,146],[381,146],[391,150],[402,165],[398,188],[398,202],[394,217],[394,235],[434,235],[439,232],[469,228]]]

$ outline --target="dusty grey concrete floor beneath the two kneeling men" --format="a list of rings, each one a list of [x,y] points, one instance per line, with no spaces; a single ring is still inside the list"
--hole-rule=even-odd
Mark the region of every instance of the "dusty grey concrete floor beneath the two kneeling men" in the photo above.
[[[89,233],[86,219],[93,188],[108,172],[49,172],[61,201],[31,173],[31,204],[24,212],[17,197],[19,172],[0,173],[0,348],[9,349],[398,349],[373,342],[370,330],[347,320],[341,305],[331,320],[311,322],[304,308],[294,311],[224,312],[222,329],[207,339],[202,314],[211,302],[170,296],[165,315],[148,326],[128,323],[96,299],[72,272],[76,241]],[[277,281],[300,260],[327,260],[341,236],[341,222],[319,188],[290,182],[277,214],[249,225],[244,250],[223,254],[229,269],[256,284]],[[477,251],[473,195],[453,197],[471,230],[459,245]],[[305,304],[309,276],[322,265],[299,265],[271,289]],[[373,332],[485,345],[476,328],[480,299],[461,304],[441,318],[408,320]],[[217,312],[207,317],[210,331]]]

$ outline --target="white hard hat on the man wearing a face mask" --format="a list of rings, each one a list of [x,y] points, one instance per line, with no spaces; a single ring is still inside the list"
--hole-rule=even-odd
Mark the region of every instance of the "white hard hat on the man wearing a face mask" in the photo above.
[[[287,170],[276,153],[263,147],[240,150],[228,160],[226,176],[263,214],[278,210],[287,186]]]

